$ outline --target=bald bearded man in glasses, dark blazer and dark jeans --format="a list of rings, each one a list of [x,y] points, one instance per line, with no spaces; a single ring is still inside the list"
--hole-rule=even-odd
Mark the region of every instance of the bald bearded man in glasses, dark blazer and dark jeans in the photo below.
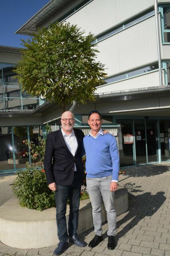
[[[68,241],[76,246],[86,246],[77,236],[80,191],[84,178],[82,164],[82,140],[84,133],[74,129],[74,115],[66,111],[61,116],[62,128],[47,136],[44,168],[47,184],[55,191],[56,220],[59,237],[54,254],[60,255],[68,248]],[[69,199],[70,213],[68,232],[66,204]]]

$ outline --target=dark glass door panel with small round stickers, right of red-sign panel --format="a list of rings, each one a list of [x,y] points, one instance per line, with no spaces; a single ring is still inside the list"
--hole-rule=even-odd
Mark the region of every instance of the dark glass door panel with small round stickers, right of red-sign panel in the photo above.
[[[146,164],[145,120],[134,120],[136,164]]]

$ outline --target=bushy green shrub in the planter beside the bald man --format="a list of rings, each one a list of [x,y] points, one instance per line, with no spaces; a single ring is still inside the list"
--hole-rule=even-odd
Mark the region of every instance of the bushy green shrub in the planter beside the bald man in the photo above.
[[[20,206],[40,211],[55,206],[55,194],[47,186],[44,169],[27,165],[17,175],[12,191],[19,198]]]

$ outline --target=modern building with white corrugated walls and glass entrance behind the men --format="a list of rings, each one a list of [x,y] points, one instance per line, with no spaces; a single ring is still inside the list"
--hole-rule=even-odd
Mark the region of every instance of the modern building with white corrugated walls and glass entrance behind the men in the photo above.
[[[76,105],[76,126],[88,132],[88,112],[97,109],[117,137],[121,167],[170,161],[170,0],[51,0],[17,33],[56,21],[94,34],[108,74],[96,102]],[[20,58],[19,49],[0,47],[0,172],[25,167],[22,140],[42,136],[47,122],[60,127],[60,106],[21,93],[12,71]]]

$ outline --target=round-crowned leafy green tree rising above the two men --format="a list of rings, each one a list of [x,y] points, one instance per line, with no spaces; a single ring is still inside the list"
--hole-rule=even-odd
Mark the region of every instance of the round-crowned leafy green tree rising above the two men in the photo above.
[[[94,36],[83,35],[70,23],[54,23],[38,30],[31,39],[22,40],[23,58],[15,68],[22,89],[31,96],[51,102],[82,104],[95,100],[95,87],[103,84],[104,65],[96,61]]]

